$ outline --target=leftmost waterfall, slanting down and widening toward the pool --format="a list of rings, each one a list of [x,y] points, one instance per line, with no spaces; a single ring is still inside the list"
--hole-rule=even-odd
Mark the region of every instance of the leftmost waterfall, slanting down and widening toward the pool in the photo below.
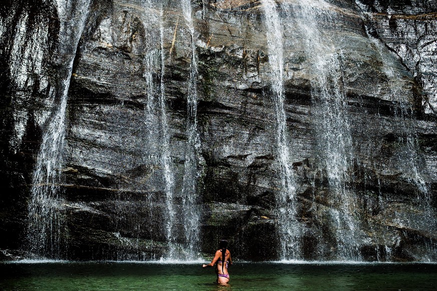
[[[37,157],[29,203],[27,240],[30,251],[60,258],[65,254],[62,247],[66,243],[62,213],[64,205],[58,187],[63,164],[65,114],[73,62],[85,27],[90,0],[81,0],[79,3],[58,0],[57,4],[61,20],[58,61],[64,66],[56,91],[60,103],[44,130]]]

